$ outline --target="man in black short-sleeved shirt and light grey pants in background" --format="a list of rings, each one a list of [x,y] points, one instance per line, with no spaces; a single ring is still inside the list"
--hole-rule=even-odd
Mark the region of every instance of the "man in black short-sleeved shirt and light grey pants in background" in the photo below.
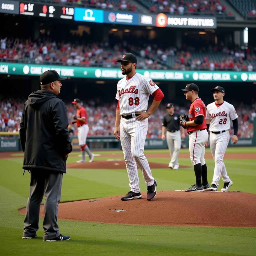
[[[183,128],[180,130],[179,114],[174,112],[173,103],[168,103],[166,109],[168,114],[164,116],[162,123],[162,140],[164,141],[166,138],[167,146],[170,151],[171,161],[168,167],[174,170],[178,170],[178,155],[181,147],[181,139],[185,138],[185,130]]]

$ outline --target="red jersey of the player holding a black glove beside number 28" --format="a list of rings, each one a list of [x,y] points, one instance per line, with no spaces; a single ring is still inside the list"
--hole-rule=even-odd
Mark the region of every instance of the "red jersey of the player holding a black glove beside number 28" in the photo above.
[[[205,103],[200,98],[197,98],[190,105],[190,109],[189,109],[189,113],[188,113],[189,121],[193,121],[199,115],[204,116],[203,123],[202,124],[198,124],[196,126],[188,125],[187,132],[201,130],[201,129],[206,129],[206,120],[205,120],[205,117],[206,117],[206,106],[205,106]]]

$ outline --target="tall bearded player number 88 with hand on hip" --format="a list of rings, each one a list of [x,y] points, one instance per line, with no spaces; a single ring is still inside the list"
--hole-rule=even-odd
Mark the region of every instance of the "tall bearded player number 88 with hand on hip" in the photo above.
[[[121,62],[122,74],[126,76],[117,84],[115,98],[118,100],[118,104],[114,136],[121,140],[131,187],[131,190],[126,196],[121,197],[121,200],[141,198],[138,165],[147,184],[147,200],[151,201],[156,196],[157,182],[152,176],[143,151],[148,130],[148,117],[160,104],[164,94],[150,78],[136,73],[137,59],[135,55],[126,53],[117,62]],[[154,96],[154,100],[147,110],[150,94]]]

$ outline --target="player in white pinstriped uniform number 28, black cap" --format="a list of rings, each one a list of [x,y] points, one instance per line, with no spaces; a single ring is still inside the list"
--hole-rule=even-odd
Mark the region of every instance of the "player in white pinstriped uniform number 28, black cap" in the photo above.
[[[210,131],[210,149],[215,162],[214,175],[211,191],[216,191],[219,186],[220,176],[224,181],[224,186],[221,191],[227,191],[233,182],[227,174],[223,157],[229,142],[230,121],[233,122],[234,135],[231,138],[231,143],[236,144],[238,141],[238,115],[233,105],[223,100],[225,89],[221,86],[216,86],[211,89],[215,102],[207,105],[206,124]],[[208,145],[208,141],[206,143]]]

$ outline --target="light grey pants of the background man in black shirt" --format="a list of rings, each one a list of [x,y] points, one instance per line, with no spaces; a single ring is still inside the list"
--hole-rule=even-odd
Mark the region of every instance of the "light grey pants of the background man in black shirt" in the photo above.
[[[177,164],[178,163],[178,155],[179,155],[179,150],[181,147],[181,135],[180,131],[176,132],[166,132],[166,142],[168,149],[170,151],[170,156],[171,156],[171,161],[170,164]]]

